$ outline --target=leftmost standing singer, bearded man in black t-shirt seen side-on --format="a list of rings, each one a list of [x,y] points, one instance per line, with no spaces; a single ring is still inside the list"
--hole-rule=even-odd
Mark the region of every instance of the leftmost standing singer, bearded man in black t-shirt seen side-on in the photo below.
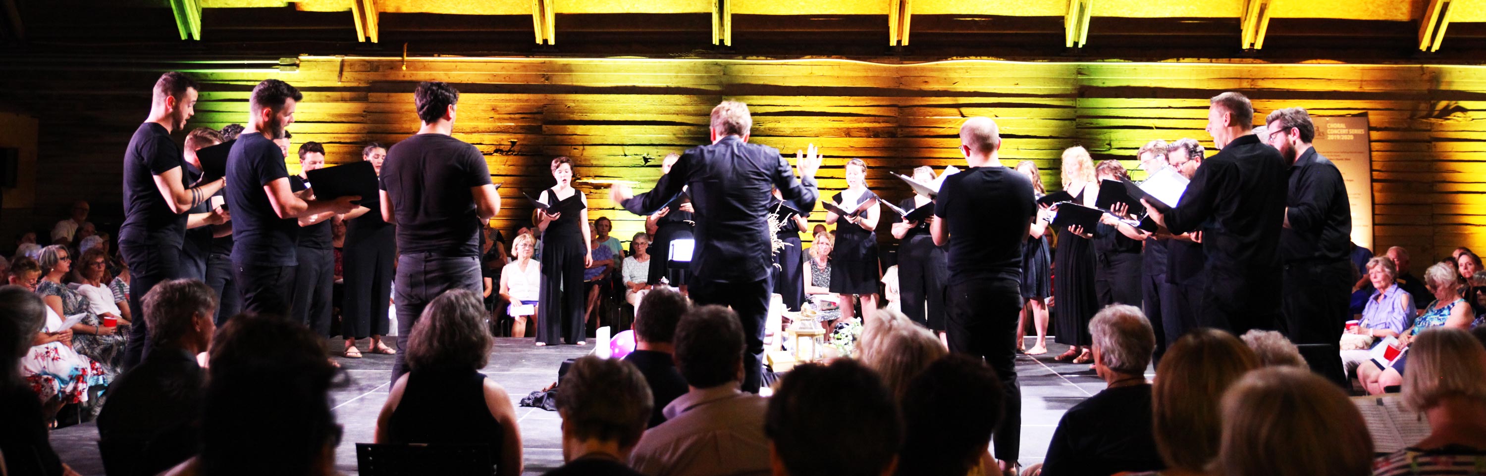
[[[119,254],[129,262],[129,314],[144,316],[140,298],[156,283],[186,277],[180,265],[186,212],[221,190],[212,179],[186,187],[186,162],[171,132],[186,128],[196,110],[196,82],[165,73],[155,82],[150,117],[140,125],[123,153],[123,224]],[[220,224],[220,218],[215,218]],[[123,353],[123,369],[149,351],[149,323],[135,319]]]

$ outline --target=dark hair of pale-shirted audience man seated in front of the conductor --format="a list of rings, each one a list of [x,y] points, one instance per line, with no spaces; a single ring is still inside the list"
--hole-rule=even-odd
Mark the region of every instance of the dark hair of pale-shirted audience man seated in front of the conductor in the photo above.
[[[643,319],[643,317],[642,317]],[[712,389],[739,380],[743,365],[743,325],[721,305],[694,307],[676,323],[676,369],[687,384]]]

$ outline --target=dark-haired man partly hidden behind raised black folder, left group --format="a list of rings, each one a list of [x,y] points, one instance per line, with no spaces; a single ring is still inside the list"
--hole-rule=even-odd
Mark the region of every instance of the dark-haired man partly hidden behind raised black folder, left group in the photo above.
[[[325,166],[325,147],[311,141],[299,145],[300,175],[288,178],[291,191],[309,188],[308,172]],[[299,267],[294,270],[293,316],[318,335],[330,335],[330,294],[336,280],[336,252],[330,245],[330,221],[333,212],[299,216],[299,243],[294,255]]]

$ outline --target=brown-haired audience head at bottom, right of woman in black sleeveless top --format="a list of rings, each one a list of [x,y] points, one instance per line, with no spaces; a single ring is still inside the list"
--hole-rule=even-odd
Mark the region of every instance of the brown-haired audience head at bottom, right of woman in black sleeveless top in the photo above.
[[[651,414],[649,387],[635,365],[578,357],[557,391],[557,414],[566,464],[544,476],[640,476],[624,464]]]

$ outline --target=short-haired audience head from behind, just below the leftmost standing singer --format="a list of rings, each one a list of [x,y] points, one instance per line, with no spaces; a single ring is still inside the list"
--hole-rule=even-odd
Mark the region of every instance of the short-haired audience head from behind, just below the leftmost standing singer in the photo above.
[[[195,279],[172,279],[150,288],[140,300],[150,344],[158,350],[207,351],[217,326],[217,294]]]

